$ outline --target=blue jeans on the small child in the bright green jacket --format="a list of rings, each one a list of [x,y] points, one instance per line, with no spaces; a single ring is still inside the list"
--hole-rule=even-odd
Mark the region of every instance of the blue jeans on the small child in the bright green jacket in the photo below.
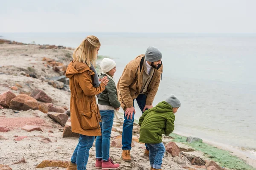
[[[155,169],[161,169],[162,159],[165,153],[165,146],[163,142],[158,144],[147,144],[149,148],[150,166]]]

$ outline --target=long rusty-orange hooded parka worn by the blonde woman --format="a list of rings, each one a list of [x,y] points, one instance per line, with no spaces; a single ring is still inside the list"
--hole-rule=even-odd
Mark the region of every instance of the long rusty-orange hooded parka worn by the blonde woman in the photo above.
[[[70,118],[72,132],[87,136],[100,136],[101,117],[96,104],[96,94],[105,90],[101,83],[93,87],[94,72],[88,65],[72,61],[67,67],[66,76],[70,78]]]

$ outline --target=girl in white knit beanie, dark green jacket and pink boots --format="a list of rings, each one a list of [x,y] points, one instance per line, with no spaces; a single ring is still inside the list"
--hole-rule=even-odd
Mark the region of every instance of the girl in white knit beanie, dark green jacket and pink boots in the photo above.
[[[100,77],[108,76],[109,82],[106,89],[99,97],[99,112],[102,118],[100,127],[102,136],[97,136],[96,148],[96,168],[102,169],[118,169],[119,164],[114,164],[109,158],[110,136],[113,126],[114,111],[119,110],[120,102],[118,101],[118,94],[116,90],[116,83],[113,76],[116,72],[116,62],[109,58],[102,59],[100,64],[102,74]]]

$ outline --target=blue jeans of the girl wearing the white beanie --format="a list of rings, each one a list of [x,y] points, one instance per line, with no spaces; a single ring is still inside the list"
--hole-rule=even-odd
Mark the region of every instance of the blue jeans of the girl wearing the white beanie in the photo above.
[[[104,161],[108,161],[109,148],[110,148],[110,136],[113,126],[114,111],[103,110],[99,111],[102,122],[99,122],[102,136],[96,137],[96,158],[102,158]]]

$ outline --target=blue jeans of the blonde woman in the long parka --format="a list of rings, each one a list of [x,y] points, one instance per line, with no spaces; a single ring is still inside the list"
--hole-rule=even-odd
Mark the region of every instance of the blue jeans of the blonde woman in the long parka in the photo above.
[[[79,135],[79,141],[73,156],[71,157],[71,162],[76,164],[77,170],[86,170],[86,165],[89,158],[89,150],[93,146],[95,136]]]

